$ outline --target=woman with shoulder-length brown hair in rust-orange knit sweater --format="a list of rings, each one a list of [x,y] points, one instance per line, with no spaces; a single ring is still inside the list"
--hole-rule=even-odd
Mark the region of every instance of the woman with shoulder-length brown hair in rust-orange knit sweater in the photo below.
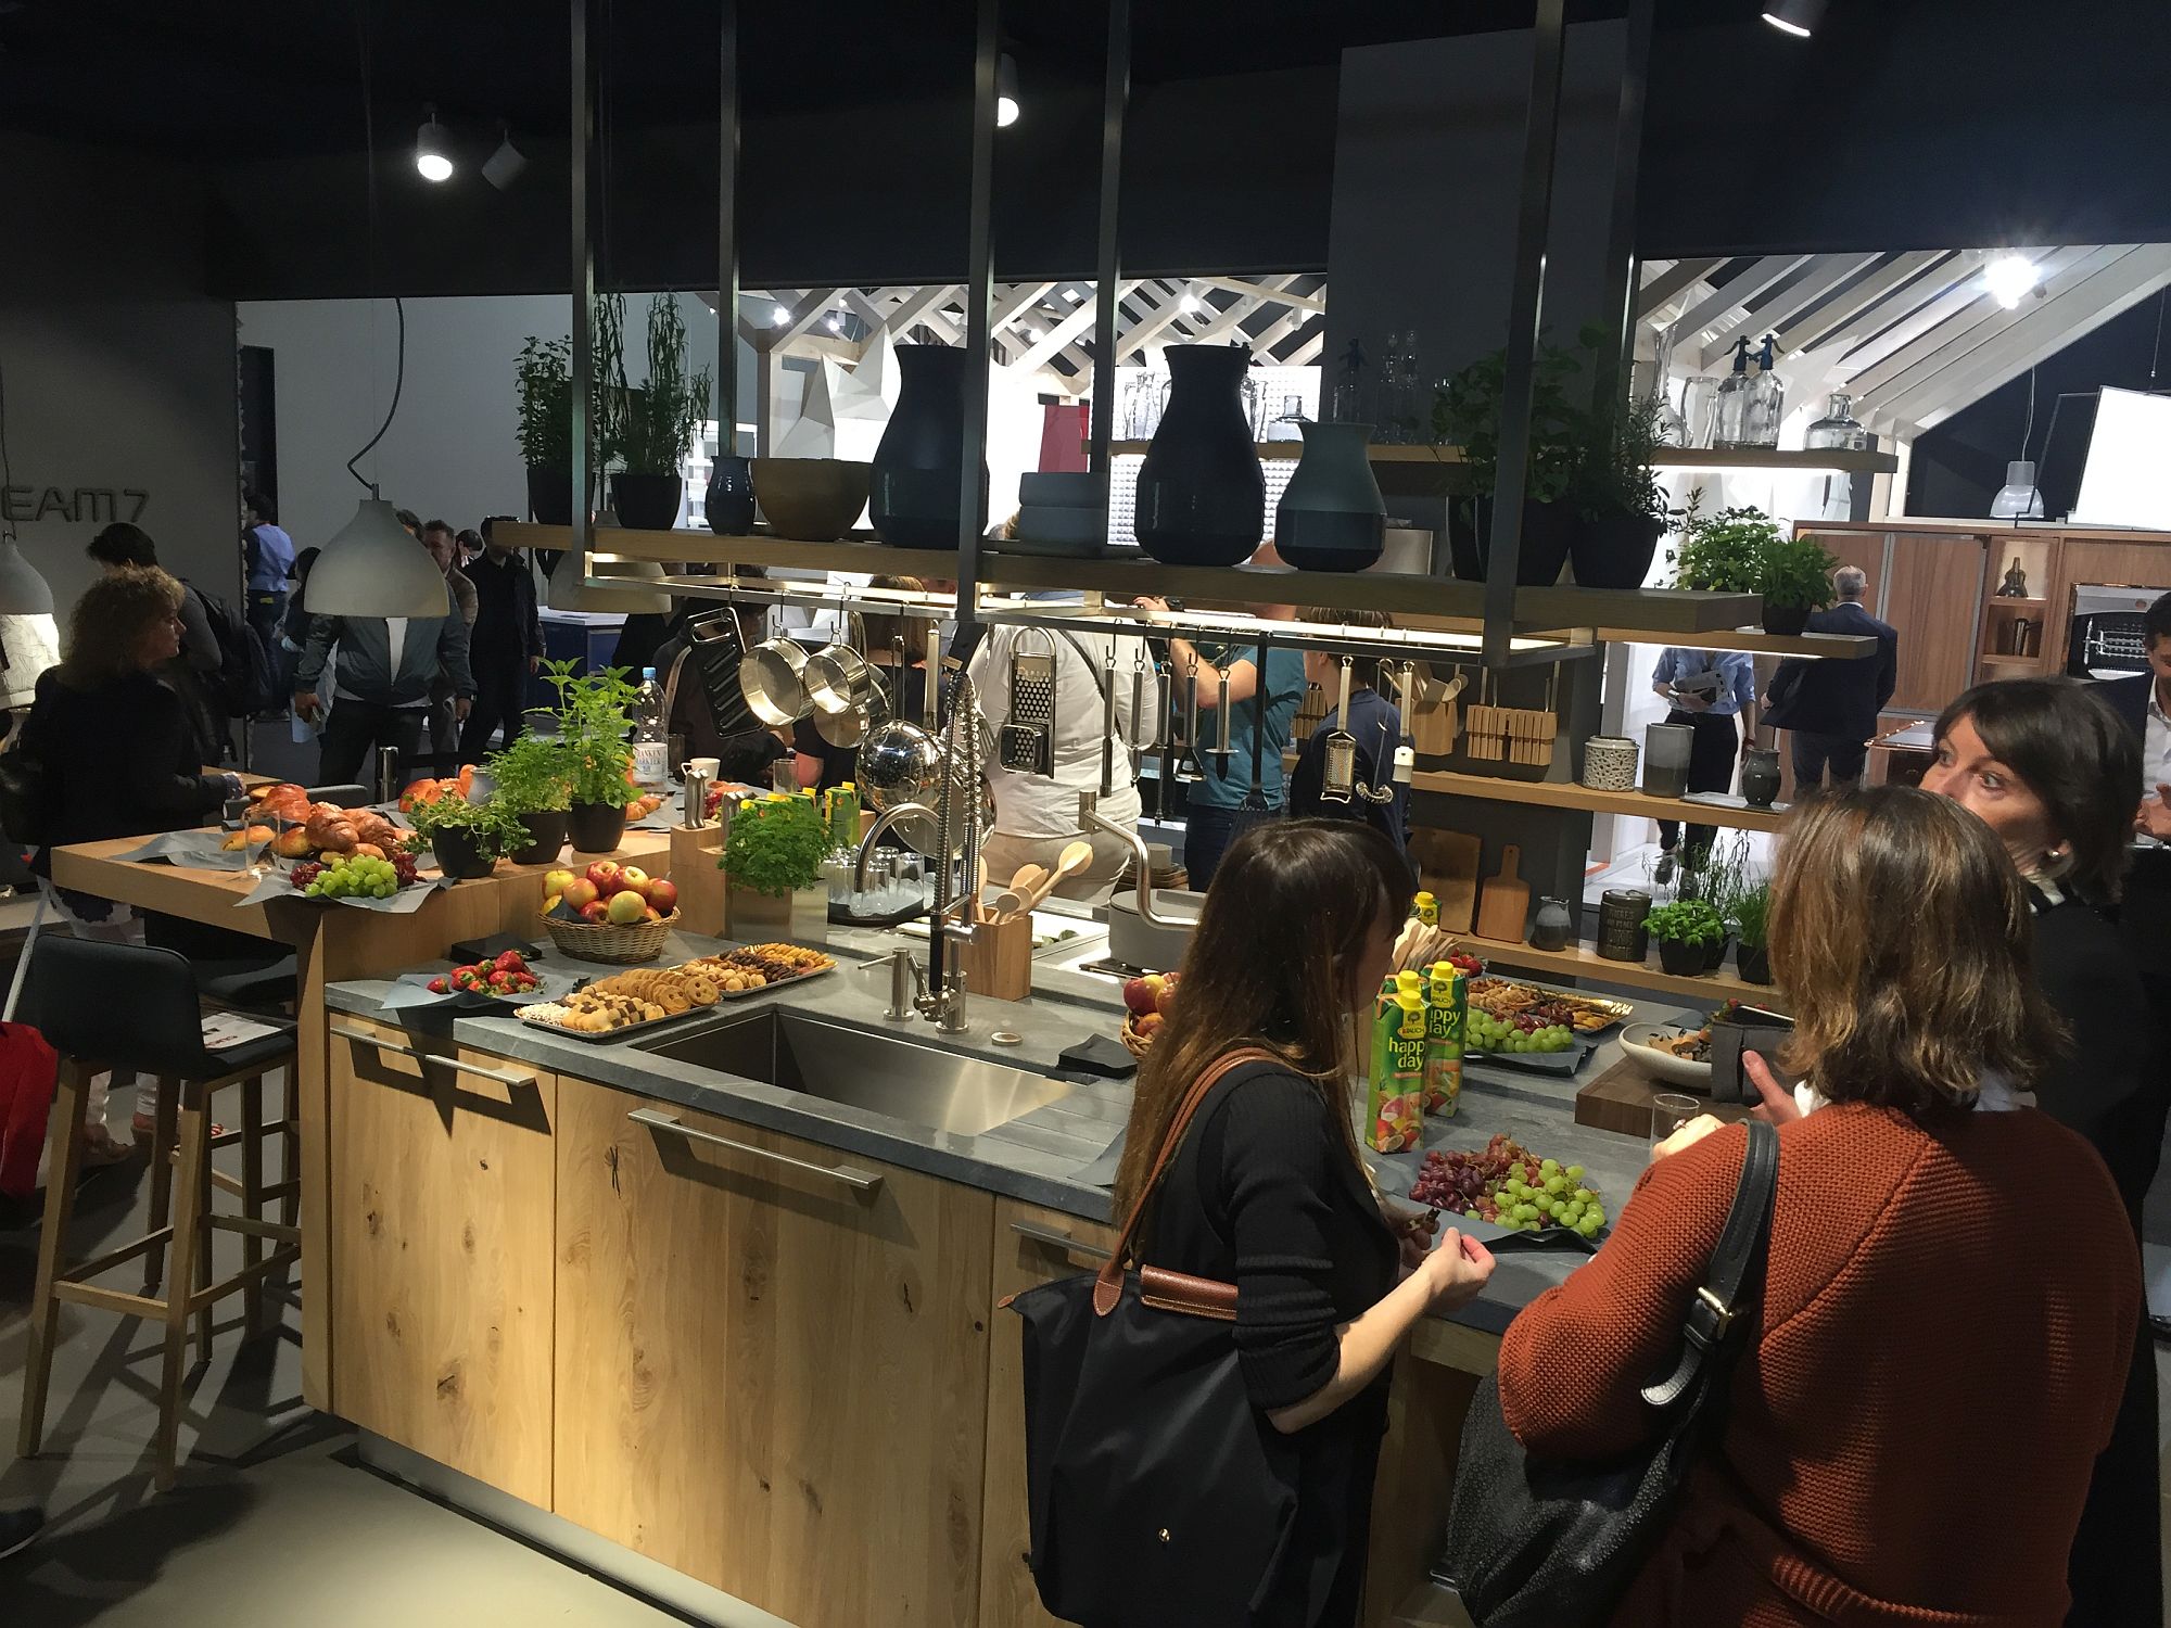
[[[1611,1621],[2058,1628],[2141,1263],[2089,1144],[1993,1107],[2062,1040],[2026,890],[1945,799],[1854,792],[1795,816],[1769,942],[1787,1064],[1828,1105],[1780,1127],[1724,1424]],[[1745,1142],[1680,1131],[1598,1257],[1509,1326],[1500,1404],[1533,1454],[1654,1435],[1639,1387],[1672,1359]]]

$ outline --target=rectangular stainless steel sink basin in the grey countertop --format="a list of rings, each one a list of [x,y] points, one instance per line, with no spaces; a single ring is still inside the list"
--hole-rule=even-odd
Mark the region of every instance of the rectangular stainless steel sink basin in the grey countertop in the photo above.
[[[777,1007],[636,1042],[636,1051],[960,1135],[992,1131],[1070,1094],[1062,1079]]]

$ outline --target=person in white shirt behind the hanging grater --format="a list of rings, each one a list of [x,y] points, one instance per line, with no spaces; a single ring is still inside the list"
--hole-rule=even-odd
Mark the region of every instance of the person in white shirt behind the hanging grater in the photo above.
[[[981,716],[988,721],[990,758],[996,758],[992,742],[1010,723],[1012,656],[1020,643],[1027,656],[1042,656],[1051,640],[1055,645],[1055,773],[1033,775],[1003,768],[1001,762],[988,764],[994,831],[981,842],[981,857],[988,862],[988,883],[994,888],[1010,886],[1010,879],[1027,864],[1044,864],[1053,870],[1066,844],[1088,838],[1079,829],[1079,792],[1101,790],[1109,649],[1116,653],[1116,745],[1109,771],[1114,790],[1101,797],[1101,814],[1127,829],[1138,825],[1138,764],[1129,747],[1138,738],[1138,725],[1131,716],[1131,673],[1144,649],[1135,638],[1116,638],[1083,627],[1075,632],[990,627],[966,669],[979,692]],[[1155,695],[1155,686],[1148,684],[1144,692]],[[1055,890],[1064,899],[1105,899],[1131,857],[1131,849],[1107,831],[1094,831],[1090,840],[1092,864]]]

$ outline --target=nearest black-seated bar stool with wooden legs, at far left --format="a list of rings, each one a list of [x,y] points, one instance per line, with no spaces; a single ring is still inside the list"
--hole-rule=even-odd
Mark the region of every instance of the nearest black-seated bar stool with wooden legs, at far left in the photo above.
[[[39,938],[30,955],[30,977],[24,992],[22,1020],[35,1025],[61,1055],[59,1124],[52,1172],[46,1181],[46,1229],[37,1246],[37,1292],[30,1302],[30,1361],[22,1387],[22,1433],[17,1452],[37,1454],[46,1435],[46,1394],[52,1385],[52,1348],[59,1337],[61,1302],[117,1311],[126,1318],[152,1318],[165,1324],[165,1365],[158,1378],[158,1467],[156,1483],[174,1485],[180,1443],[180,1376],[189,1344],[189,1318],[198,1318],[202,1354],[211,1352],[211,1307],[230,1294],[261,1292],[265,1274],[300,1257],[302,1233],[291,1222],[263,1218],[263,1077],[274,1068],[293,1070],[295,1033],[280,1022],[276,1033],[243,1040],[211,1051],[204,1046],[202,1005],[195,970],[174,951],[139,949],[135,944],[100,944],[72,938]],[[263,1018],[269,1022],[269,1018]],[[76,1174],[80,1137],[72,1135],[82,1120],[82,1098],[89,1081],[102,1068],[132,1068],[161,1081],[161,1122],[174,1103],[174,1148],[178,1183],[167,1174],[167,1155],[152,1157],[152,1220],[158,1220],[161,1187],[172,1194],[172,1218],[165,1226],[106,1250],[78,1265],[63,1265],[67,1224],[76,1209]],[[291,1079],[291,1072],[289,1072]],[[217,1142],[243,1144],[243,1179],[232,1185],[241,1194],[241,1216],[213,1211],[215,1172],[211,1168],[211,1098],[239,1085],[243,1094],[243,1127]],[[289,1183],[295,1179],[289,1174]],[[297,1185],[293,1187],[297,1194]],[[284,1196],[284,1194],[282,1194]],[[291,1213],[291,1205],[289,1205]],[[243,1237],[245,1265],[221,1281],[211,1281],[211,1242],[215,1233]],[[271,1250],[265,1252],[265,1244]],[[174,1272],[163,1296],[154,1296],[158,1268],[167,1244],[174,1248]],[[143,1294],[124,1294],[93,1285],[89,1279],[150,1255],[152,1283]],[[202,1279],[195,1283],[195,1279]]]

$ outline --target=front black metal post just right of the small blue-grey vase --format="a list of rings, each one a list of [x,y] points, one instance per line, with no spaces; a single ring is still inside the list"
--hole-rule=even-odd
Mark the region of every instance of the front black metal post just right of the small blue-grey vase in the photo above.
[[[1491,549],[1485,562],[1483,662],[1505,666],[1515,634],[1515,571],[1522,564],[1522,497],[1531,484],[1531,393],[1537,332],[1546,313],[1546,239],[1552,224],[1552,152],[1561,137],[1561,46],[1565,0],[1537,0],[1531,33],[1531,115],[1522,141],[1522,211],[1515,217],[1515,289],[1507,319],[1507,378],[1500,391],[1500,465],[1494,480]]]

